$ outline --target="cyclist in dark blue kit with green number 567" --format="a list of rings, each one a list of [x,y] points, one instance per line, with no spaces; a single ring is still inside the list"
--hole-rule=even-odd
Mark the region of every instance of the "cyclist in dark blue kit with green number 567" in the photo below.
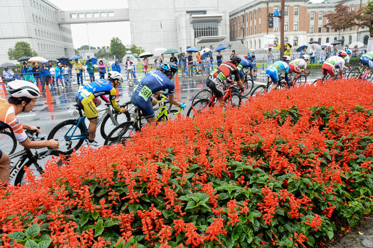
[[[155,119],[153,106],[158,103],[152,94],[163,94],[168,89],[170,103],[181,108],[186,107],[184,103],[178,102],[174,97],[175,84],[171,79],[177,71],[178,67],[173,62],[161,64],[159,70],[149,71],[139,79],[139,83],[135,86],[131,102],[141,109],[149,124]]]

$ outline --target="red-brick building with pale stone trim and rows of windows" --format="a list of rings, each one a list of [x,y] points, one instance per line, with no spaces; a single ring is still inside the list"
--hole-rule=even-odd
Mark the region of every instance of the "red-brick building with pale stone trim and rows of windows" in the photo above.
[[[324,4],[311,4],[304,0],[287,1],[285,6],[285,42],[294,46],[318,41],[319,44],[340,40],[341,45],[354,41],[367,44],[368,29],[351,27],[337,31],[323,27],[328,20],[325,15],[334,11],[340,0],[331,0]],[[346,0],[350,10],[358,10],[367,5],[367,0]],[[265,35],[274,35],[274,43],[280,38],[279,27],[268,28],[268,13],[279,10],[280,1],[254,0],[229,13],[230,40],[240,40],[246,47],[255,49],[265,46]]]

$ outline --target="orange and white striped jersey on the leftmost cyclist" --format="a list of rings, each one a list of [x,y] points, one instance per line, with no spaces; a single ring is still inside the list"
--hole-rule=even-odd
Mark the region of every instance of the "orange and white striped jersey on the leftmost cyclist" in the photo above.
[[[0,98],[0,131],[10,127],[17,141],[21,143],[27,140],[28,136],[16,114],[15,106]]]

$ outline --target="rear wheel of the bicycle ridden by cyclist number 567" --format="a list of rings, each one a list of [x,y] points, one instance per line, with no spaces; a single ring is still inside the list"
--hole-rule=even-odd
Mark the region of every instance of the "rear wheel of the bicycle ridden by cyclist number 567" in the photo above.
[[[134,125],[133,121],[123,122],[118,127],[111,130],[105,139],[104,145],[116,145],[120,143],[126,145],[126,140],[131,139],[132,135],[137,131],[138,128]]]

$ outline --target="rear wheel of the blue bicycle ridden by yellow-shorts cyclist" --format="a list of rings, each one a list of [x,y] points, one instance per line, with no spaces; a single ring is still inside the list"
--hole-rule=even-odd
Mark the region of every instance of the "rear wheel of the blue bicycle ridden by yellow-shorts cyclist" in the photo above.
[[[79,123],[78,120],[69,119],[62,121],[48,135],[49,139],[57,139],[60,143],[60,149],[58,151],[53,151],[52,155],[68,155],[72,154],[74,149],[78,150],[83,144],[84,139],[87,136],[87,130],[85,129],[83,123]]]

